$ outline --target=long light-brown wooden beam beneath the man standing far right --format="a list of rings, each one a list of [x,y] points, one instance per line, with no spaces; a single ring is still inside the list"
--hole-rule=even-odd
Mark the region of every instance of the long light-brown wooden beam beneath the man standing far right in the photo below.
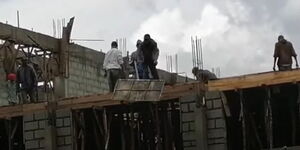
[[[209,81],[208,91],[228,91],[300,81],[300,69],[243,75]]]

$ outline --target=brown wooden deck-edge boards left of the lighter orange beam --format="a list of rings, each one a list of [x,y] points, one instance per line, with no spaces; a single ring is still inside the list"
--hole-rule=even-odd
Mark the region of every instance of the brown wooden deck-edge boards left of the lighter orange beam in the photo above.
[[[204,86],[199,82],[191,82],[178,84],[174,86],[166,86],[161,95],[161,100],[178,99],[182,96],[195,94],[200,90],[204,90]],[[105,107],[124,104],[122,101],[112,100],[112,93],[95,94],[81,97],[63,98],[57,101],[57,109],[84,109],[95,106]],[[46,111],[49,107],[48,102],[40,102],[34,104],[23,104],[14,106],[0,107],[0,118],[9,118],[23,116],[33,112]]]

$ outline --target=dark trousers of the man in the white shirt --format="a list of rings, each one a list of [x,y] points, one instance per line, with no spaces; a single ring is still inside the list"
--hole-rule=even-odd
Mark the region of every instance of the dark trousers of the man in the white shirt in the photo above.
[[[113,92],[117,81],[121,78],[121,69],[109,69],[107,70],[109,91]]]

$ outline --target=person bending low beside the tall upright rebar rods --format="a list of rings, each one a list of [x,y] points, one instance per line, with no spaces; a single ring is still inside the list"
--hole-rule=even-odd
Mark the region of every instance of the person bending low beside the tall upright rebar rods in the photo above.
[[[199,69],[198,67],[194,67],[192,73],[194,74],[194,76],[196,76],[196,79],[198,81],[201,81],[203,83],[207,83],[209,80],[217,79],[217,76],[214,73],[208,70]]]

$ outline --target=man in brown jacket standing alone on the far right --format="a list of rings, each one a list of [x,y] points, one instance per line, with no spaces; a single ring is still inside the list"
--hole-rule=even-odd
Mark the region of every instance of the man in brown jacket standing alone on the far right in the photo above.
[[[292,57],[296,61],[296,67],[298,68],[297,54],[294,50],[293,44],[282,35],[278,36],[278,42],[275,44],[274,50],[274,65],[273,70],[275,71],[275,64],[278,58],[277,66],[279,71],[292,70]]]

